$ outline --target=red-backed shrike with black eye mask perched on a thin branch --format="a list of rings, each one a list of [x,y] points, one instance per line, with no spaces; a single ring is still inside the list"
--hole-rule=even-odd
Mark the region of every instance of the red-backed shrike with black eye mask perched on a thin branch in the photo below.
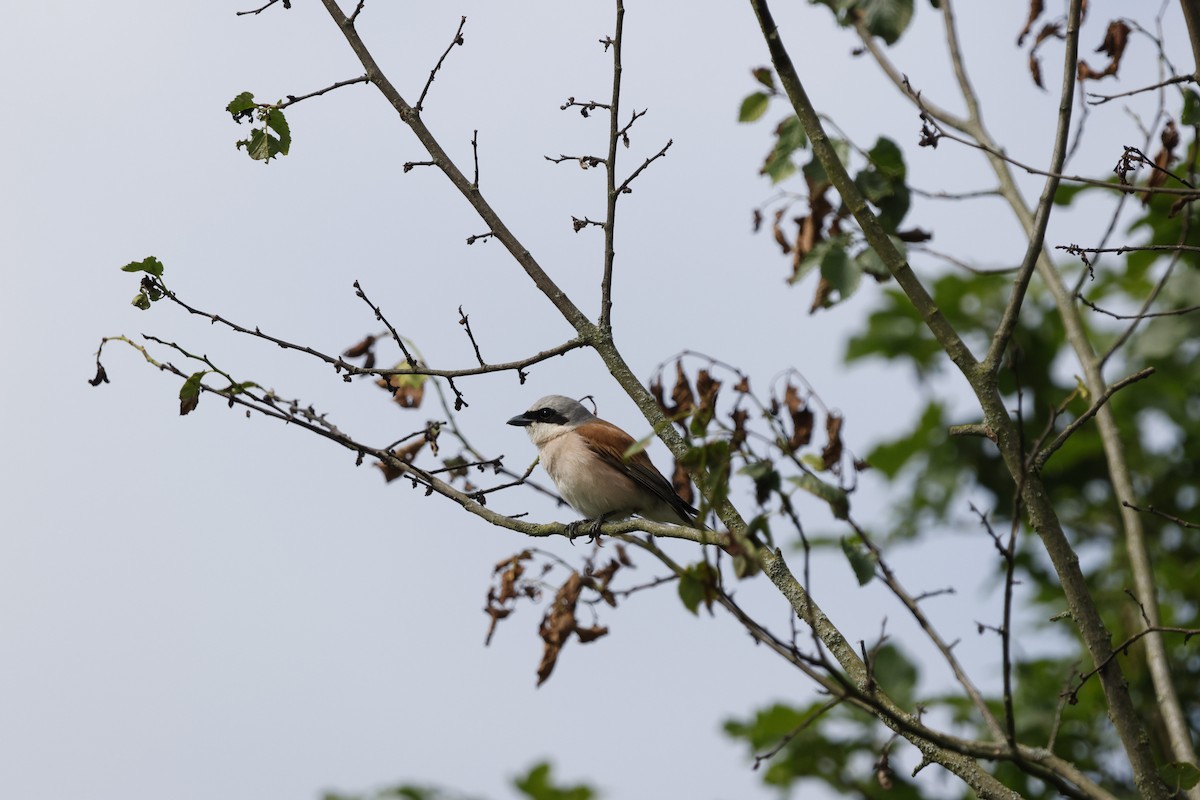
[[[593,531],[607,519],[635,513],[696,527],[696,510],[676,494],[644,451],[625,457],[634,437],[570,397],[542,397],[509,425],[526,429],[558,493],[593,521]]]

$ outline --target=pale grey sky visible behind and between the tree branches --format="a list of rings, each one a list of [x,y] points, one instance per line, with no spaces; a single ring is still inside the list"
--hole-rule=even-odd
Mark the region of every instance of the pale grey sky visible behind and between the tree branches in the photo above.
[[[751,207],[774,191],[757,168],[785,114],[780,106],[760,125],[734,121],[755,88],[750,68],[767,62],[752,14],[742,4],[626,5],[623,103],[649,113],[622,157],[632,168],[666,139],[674,146],[623,200],[618,344],[643,377],[683,348],[739,365],[760,389],[797,367],[846,413],[848,444],[866,452],[928,389],[902,371],[841,367],[840,341],[876,290],[810,317],[811,285],[786,289],[787,264],[767,235],[750,233]],[[989,185],[973,154],[916,146],[916,114],[871,89],[874,66],[850,56],[856,42],[824,8],[779,5],[815,102],[844,131],[870,145],[902,120],[914,185]],[[895,59],[916,85],[958,107],[936,18],[917,5],[917,29]],[[994,132],[1018,157],[1044,162],[1055,98],[1030,86],[1025,54],[1012,46],[1025,10],[961,5]],[[223,112],[234,95],[272,100],[361,73],[319,5],[294,6],[238,18],[250,4],[42,0],[11,10],[0,31],[4,793],[281,800],[416,781],[500,799],[512,775],[551,758],[560,777],[593,782],[608,798],[772,796],[720,724],[814,692],[727,616],[694,618],[671,589],[643,593],[606,609],[612,633],[572,643],[534,688],[540,609],[521,608],[482,648],[491,569],[527,540],[400,482],[385,486],[328,443],[247,421],[211,397],[179,417],[178,381],[132,350],[106,353],[110,385],[84,383],[101,336],[146,332],[312,402],[379,445],[440,415],[400,411],[376,389],[169,307],[134,309],[137,278],[119,267],[149,254],[194,305],[325,351],[378,329],[353,294],[355,279],[434,366],[473,363],[460,305],[492,361],[569,338],[499,245],[463,243],[482,225],[440,174],[402,173],[422,152],[373,89],[348,86],[290,109],[292,155],[269,167],[234,149],[246,136]],[[596,42],[611,30],[610,6],[368,0],[360,20],[383,68],[415,100],[468,17],[466,47],[450,54],[425,119],[462,164],[479,130],[485,196],[592,313],[600,236],[572,233],[570,216],[602,215],[602,176],[542,156],[604,146],[602,116],[559,106],[607,97],[610,60]],[[1088,49],[1121,6],[1092,4]],[[1048,73],[1057,58],[1048,49]],[[1121,88],[1154,79],[1141,77]],[[1116,112],[1104,124],[1129,126]],[[1074,168],[1103,174],[1110,156],[1084,151]],[[1024,246],[998,204],[918,203],[911,219],[980,264],[1009,263]],[[1051,236],[1063,241],[1087,230],[1056,224]],[[534,453],[503,422],[546,393],[593,393],[604,416],[646,431],[586,353],[533,368],[526,386],[505,374],[462,389],[470,408],[461,420],[475,444],[514,467]],[[653,456],[667,465],[661,447]],[[876,485],[858,503],[864,517],[881,518]],[[493,504],[571,518],[521,494]],[[805,515],[815,529],[829,522],[816,504]],[[940,566],[953,564],[961,582],[953,602],[931,608],[947,638],[974,643],[973,620],[998,615],[990,549],[973,531],[940,546]],[[922,572],[928,554],[895,558],[914,589],[946,583]],[[660,573],[644,559],[640,566],[641,578]],[[854,585],[840,558],[817,575],[817,599],[851,639],[872,638],[884,615],[898,638],[911,630],[876,587]],[[739,597],[786,625],[769,587],[748,584]],[[965,650],[979,680],[995,685],[990,645]],[[928,678],[936,685],[944,669]],[[899,763],[911,769],[912,753]]]

